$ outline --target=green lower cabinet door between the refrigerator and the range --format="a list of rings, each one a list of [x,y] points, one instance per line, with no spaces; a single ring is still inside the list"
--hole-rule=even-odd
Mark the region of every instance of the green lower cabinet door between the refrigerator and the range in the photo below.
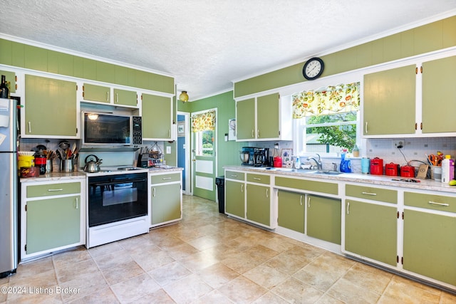
[[[26,253],[47,251],[81,239],[81,196],[27,202]]]

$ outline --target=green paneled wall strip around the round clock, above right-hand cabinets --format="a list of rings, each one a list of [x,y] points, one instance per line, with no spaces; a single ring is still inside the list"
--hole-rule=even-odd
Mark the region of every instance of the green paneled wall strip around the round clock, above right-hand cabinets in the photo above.
[[[456,16],[321,56],[321,77],[456,46]],[[305,62],[234,83],[234,97],[302,83]]]

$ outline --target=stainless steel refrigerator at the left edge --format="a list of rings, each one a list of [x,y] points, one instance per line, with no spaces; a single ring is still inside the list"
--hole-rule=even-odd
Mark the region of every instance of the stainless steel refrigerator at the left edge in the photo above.
[[[18,263],[17,101],[0,98],[0,278]]]

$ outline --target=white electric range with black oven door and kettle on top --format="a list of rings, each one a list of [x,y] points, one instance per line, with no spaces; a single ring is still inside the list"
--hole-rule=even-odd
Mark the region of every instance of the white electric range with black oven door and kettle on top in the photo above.
[[[85,172],[87,248],[149,232],[148,172],[132,166]]]

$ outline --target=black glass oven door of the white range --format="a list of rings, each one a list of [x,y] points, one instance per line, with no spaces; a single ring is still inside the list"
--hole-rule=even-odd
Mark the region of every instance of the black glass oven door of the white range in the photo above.
[[[147,173],[88,177],[88,226],[147,215]]]

